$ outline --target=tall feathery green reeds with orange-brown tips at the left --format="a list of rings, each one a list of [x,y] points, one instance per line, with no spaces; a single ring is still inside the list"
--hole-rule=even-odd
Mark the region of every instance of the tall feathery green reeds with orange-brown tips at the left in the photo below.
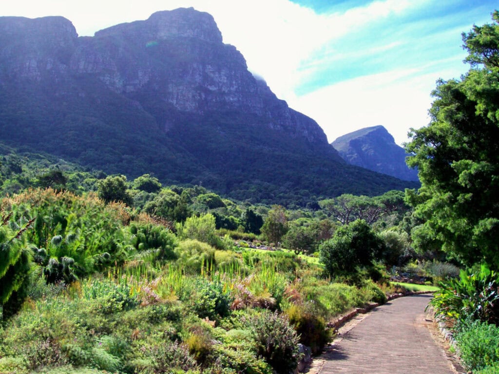
[[[123,204],[104,204],[95,195],[77,196],[53,189],[27,190],[2,203],[12,220],[32,217],[26,240],[36,263],[52,281],[73,281],[127,257],[123,224],[130,216]]]

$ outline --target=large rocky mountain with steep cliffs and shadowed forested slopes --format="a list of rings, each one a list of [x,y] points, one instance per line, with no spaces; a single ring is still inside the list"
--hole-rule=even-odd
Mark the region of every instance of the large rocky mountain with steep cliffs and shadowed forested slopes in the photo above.
[[[193,8],[93,37],[63,17],[0,17],[0,133],[21,151],[239,199],[304,203],[410,187],[347,165]]]

